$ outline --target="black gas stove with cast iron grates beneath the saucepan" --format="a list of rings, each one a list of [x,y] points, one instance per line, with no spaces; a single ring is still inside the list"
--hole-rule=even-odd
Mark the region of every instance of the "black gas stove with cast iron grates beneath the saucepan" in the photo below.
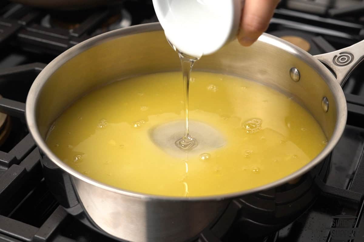
[[[364,39],[363,17],[359,0],[285,0],[267,32],[314,55]],[[0,241],[115,241],[82,214],[68,214],[48,190],[25,124],[25,99],[37,74],[64,50],[154,21],[151,1],[82,11],[0,3]],[[289,184],[232,200],[215,224],[190,241],[364,241],[363,74],[358,67],[344,86],[347,125],[324,162]]]

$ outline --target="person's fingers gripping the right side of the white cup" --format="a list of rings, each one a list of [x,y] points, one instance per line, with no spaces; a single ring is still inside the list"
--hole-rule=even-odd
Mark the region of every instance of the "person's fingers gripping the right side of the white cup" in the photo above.
[[[278,2],[279,0],[245,0],[238,33],[240,44],[252,45],[267,30]]]

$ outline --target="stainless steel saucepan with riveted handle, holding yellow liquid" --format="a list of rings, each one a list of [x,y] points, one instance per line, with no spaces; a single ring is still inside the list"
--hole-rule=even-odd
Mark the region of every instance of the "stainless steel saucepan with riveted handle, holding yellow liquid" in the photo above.
[[[278,181],[234,194],[175,198],[130,192],[75,171],[45,143],[54,120],[71,103],[110,81],[180,70],[179,59],[158,23],[114,30],[86,40],[53,60],[34,81],[27,98],[29,131],[41,151],[52,193],[84,223],[127,241],[186,241],[214,223],[231,198],[286,184],[308,173],[335,147],[343,133],[347,106],[343,85],[363,59],[364,42],[311,56],[279,38],[263,34],[251,47],[233,41],[204,56],[194,70],[237,75],[292,94],[321,125],[328,143],[310,163]],[[331,67],[335,75],[328,70]],[[120,93],[122,95],[122,93]]]

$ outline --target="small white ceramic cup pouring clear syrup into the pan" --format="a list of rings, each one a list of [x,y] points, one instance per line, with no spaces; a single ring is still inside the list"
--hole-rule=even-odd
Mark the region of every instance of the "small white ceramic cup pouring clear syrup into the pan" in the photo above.
[[[153,0],[153,5],[167,39],[199,58],[236,37],[244,0]]]

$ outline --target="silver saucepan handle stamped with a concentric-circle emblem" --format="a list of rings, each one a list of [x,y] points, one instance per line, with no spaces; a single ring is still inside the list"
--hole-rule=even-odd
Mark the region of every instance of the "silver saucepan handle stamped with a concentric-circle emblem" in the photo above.
[[[364,40],[347,48],[314,57],[329,66],[339,84],[343,86],[351,72],[364,59]]]

